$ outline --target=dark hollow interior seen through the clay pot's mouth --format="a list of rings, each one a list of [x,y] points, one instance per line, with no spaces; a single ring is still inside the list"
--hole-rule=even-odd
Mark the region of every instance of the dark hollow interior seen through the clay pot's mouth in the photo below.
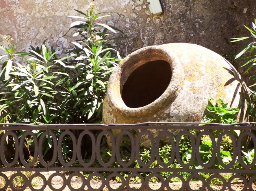
[[[147,106],[159,98],[171,82],[171,65],[164,60],[147,62],[135,69],[122,87],[127,107]]]

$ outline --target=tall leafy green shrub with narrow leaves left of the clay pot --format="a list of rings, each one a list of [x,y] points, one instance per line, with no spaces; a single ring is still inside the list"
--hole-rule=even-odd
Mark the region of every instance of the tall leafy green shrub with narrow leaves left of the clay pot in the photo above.
[[[108,77],[121,60],[111,47],[109,31],[99,23],[111,16],[95,14],[93,5],[71,24],[76,42],[67,55],[58,55],[45,42],[28,52],[14,52],[12,38],[5,36],[0,49],[0,120],[29,124],[72,124],[101,122],[102,102]],[[119,58],[113,56],[117,54]],[[2,59],[2,60],[1,60]]]

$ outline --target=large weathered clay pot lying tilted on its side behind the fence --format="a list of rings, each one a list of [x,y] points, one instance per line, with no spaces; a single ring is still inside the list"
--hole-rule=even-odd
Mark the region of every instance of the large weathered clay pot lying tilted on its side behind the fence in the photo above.
[[[237,120],[247,120],[247,87],[222,56],[187,43],[144,47],[110,76],[103,122],[200,122],[210,98],[239,107]]]

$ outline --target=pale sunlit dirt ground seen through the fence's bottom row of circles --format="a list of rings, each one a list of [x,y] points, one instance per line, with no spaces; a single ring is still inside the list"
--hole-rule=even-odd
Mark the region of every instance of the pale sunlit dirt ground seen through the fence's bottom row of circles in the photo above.
[[[11,175],[11,172],[3,172],[4,174],[7,175],[7,177],[10,177]],[[55,171],[50,171],[50,172],[42,172],[41,174],[43,174],[46,178],[46,180],[48,180],[48,177],[50,175],[52,175],[53,173],[55,173]],[[66,178],[68,178],[68,176],[65,176]],[[35,179],[35,178],[34,178]],[[33,179],[33,180],[34,180]],[[1,186],[1,183],[3,183],[0,179],[0,188],[2,187]],[[33,188],[34,189],[40,189],[42,187],[42,180],[40,179],[35,179],[33,182],[34,184]],[[82,185],[82,180],[78,177],[73,177],[71,179],[71,186],[74,188],[74,189],[78,189],[80,188]],[[90,185],[91,187],[93,187],[94,189],[98,189],[100,188],[101,186],[101,182],[100,181],[91,181],[90,182]],[[118,189],[120,186],[121,186],[121,183],[115,183],[115,182],[110,182],[110,187],[112,189]],[[132,190],[136,190],[138,189],[139,187],[141,187],[141,184],[129,184],[131,189]],[[63,180],[60,176],[56,176],[52,179],[52,186],[55,188],[55,189],[59,189],[63,186]],[[150,188],[153,189],[153,190],[160,190],[160,187],[161,187],[161,183],[150,183],[149,184]],[[169,186],[171,187],[171,189],[173,190],[179,190],[181,187],[182,187],[182,182],[170,182],[169,183]],[[190,182],[189,184],[190,188],[192,190],[199,190],[201,187],[202,187],[202,182]],[[242,182],[236,182],[234,184],[232,184],[232,190],[233,191],[241,191],[243,190],[243,183]],[[17,187],[18,188],[18,187]],[[222,189],[222,186],[212,186],[211,187],[212,190],[214,191],[220,191]],[[253,185],[253,189],[256,190],[256,185],[254,184]],[[10,191],[11,189],[7,189],[7,191]],[[69,187],[66,186],[64,189],[62,189],[63,191],[70,191]],[[84,189],[85,191],[90,191],[90,189],[88,189],[88,187],[85,187]],[[108,191],[109,189],[105,186],[102,191]],[[168,189],[166,187],[164,187],[162,189],[163,191],[168,191]],[[29,189],[28,187],[25,189],[25,191],[31,191],[31,189]],[[46,188],[44,189],[44,191],[51,191],[51,189],[46,186]],[[124,188],[123,191],[128,191],[128,189]],[[143,189],[143,191],[147,191],[146,188]],[[185,188],[184,191],[187,191],[187,189]],[[208,191],[208,189],[204,189],[204,191]],[[226,188],[224,191],[230,191],[228,190],[228,188]],[[247,191],[249,191],[249,189],[247,189]]]

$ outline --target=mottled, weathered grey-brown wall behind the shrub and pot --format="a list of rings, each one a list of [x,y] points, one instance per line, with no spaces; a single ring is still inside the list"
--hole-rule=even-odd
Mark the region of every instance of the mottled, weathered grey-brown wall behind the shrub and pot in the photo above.
[[[160,1],[164,12],[154,16],[147,0],[0,0],[0,37],[13,36],[17,51],[46,38],[67,48],[72,33],[60,38],[72,22],[67,15],[77,15],[73,9],[83,11],[93,2],[99,12],[113,13],[106,22],[129,37],[115,42],[123,55],[148,45],[188,42],[231,59],[245,42],[231,44],[228,38],[248,34],[243,24],[251,25],[256,17],[256,0]]]

